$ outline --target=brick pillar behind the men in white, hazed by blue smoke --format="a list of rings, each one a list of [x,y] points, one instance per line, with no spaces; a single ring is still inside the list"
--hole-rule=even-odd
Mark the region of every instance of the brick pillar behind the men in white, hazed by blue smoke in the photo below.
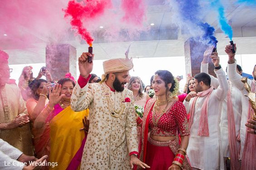
[[[194,77],[197,73],[200,73],[203,53],[206,49],[207,45],[202,44],[202,42],[195,41],[193,38],[189,38],[185,42],[184,53],[186,75],[190,73]],[[211,58],[208,60],[208,63],[209,74],[216,77],[214,73],[214,65],[212,64]]]

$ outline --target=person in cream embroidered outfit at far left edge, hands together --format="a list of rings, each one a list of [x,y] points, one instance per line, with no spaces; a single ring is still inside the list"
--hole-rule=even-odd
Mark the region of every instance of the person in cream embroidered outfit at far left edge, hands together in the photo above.
[[[26,155],[34,155],[25,101],[15,84],[8,84],[8,54],[0,51],[0,138]]]

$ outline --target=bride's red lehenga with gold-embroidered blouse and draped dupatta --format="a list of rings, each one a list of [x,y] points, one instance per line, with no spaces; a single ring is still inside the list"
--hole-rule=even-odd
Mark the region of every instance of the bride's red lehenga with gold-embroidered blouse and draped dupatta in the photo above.
[[[145,105],[143,119],[137,119],[142,126],[142,145],[139,146],[140,160],[150,166],[150,170],[167,170],[180,148],[178,132],[181,136],[188,136],[187,112],[182,102],[173,99],[165,113],[156,114],[154,104],[156,99],[149,99]],[[173,141],[158,142],[153,140],[149,134],[154,136],[174,137]],[[185,158],[182,168],[191,170],[190,163]]]

